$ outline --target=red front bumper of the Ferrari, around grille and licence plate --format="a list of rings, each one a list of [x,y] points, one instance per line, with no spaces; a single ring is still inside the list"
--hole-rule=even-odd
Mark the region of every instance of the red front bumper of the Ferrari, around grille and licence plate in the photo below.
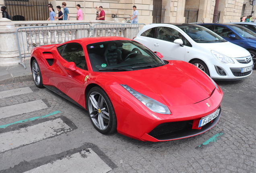
[[[108,90],[108,87],[105,89]],[[109,91],[118,90],[120,90],[120,85],[109,86]],[[220,110],[219,115],[212,122],[198,128],[200,119],[220,108],[223,93],[217,89],[211,97],[199,103],[169,106],[171,115],[154,113],[134,96],[128,96],[126,92],[109,95],[116,112],[117,131],[140,141],[157,142],[192,137],[214,127],[221,116]],[[207,104],[211,106],[209,107]],[[171,127],[172,125],[178,127]],[[163,127],[160,130],[161,133],[157,132],[159,127],[160,129]]]

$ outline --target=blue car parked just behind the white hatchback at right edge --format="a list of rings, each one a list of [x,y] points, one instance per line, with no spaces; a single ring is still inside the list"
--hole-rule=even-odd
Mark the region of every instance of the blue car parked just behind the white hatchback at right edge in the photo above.
[[[198,24],[212,30],[225,40],[248,50],[252,55],[254,69],[256,68],[256,33],[237,24],[203,23]]]

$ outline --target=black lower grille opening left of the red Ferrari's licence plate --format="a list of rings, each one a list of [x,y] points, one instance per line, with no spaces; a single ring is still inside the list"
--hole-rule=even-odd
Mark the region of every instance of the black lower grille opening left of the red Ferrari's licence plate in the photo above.
[[[175,131],[180,131],[186,129],[187,127],[192,126],[193,121],[178,121],[178,122],[170,122],[170,123],[163,123],[155,127],[149,135],[152,137],[163,135],[166,133],[172,133]]]

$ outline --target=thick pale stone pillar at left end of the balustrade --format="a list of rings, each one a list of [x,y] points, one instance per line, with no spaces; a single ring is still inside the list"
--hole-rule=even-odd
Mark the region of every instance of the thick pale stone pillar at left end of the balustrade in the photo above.
[[[17,28],[7,18],[0,19],[0,65],[8,66],[20,62],[16,36]]]

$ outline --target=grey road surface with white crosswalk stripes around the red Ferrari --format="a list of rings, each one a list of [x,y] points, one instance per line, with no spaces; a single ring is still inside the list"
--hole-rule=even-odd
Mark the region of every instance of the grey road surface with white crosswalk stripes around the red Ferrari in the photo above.
[[[256,70],[217,81],[224,92],[219,123],[158,143],[102,135],[87,111],[32,81],[0,85],[0,173],[255,173],[255,79]]]

